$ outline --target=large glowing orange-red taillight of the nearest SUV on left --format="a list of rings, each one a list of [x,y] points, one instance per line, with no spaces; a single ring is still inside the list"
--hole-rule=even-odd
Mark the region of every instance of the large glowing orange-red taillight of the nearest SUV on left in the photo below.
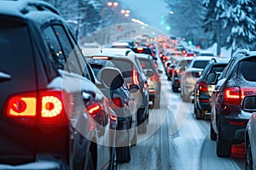
[[[72,108],[73,100],[70,94],[59,90],[46,90],[38,94],[27,93],[11,97],[8,101],[7,116],[27,124],[60,125],[69,122],[67,114],[73,111]]]

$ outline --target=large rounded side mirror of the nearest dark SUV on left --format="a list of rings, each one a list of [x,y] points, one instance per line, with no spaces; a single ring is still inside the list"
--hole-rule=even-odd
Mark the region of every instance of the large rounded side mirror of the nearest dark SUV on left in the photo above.
[[[104,67],[101,71],[101,80],[106,88],[116,89],[123,86],[124,77],[117,68]]]

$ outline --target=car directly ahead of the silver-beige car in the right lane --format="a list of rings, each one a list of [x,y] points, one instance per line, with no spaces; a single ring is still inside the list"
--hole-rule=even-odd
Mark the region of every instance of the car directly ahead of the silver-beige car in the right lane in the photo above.
[[[180,88],[180,78],[188,66],[190,65],[192,61],[192,57],[184,57],[181,59],[177,59],[177,65],[173,65],[173,71],[172,71],[172,91],[173,92],[178,92]]]

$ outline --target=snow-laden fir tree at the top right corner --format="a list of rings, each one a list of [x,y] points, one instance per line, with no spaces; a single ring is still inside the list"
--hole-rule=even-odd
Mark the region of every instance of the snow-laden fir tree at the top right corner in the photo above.
[[[226,11],[227,24],[231,26],[226,47],[231,47],[234,52],[237,48],[253,48],[256,40],[255,5],[254,0],[233,0]]]

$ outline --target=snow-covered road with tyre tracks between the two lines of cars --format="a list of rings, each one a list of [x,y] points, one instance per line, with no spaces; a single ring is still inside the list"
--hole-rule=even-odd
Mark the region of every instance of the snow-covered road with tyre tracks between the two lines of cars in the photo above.
[[[119,164],[119,169],[245,169],[241,152],[230,158],[216,155],[210,122],[196,120],[194,106],[172,93],[166,76],[161,81],[161,107],[150,112],[148,133],[139,134],[143,141],[131,148],[131,162]]]

